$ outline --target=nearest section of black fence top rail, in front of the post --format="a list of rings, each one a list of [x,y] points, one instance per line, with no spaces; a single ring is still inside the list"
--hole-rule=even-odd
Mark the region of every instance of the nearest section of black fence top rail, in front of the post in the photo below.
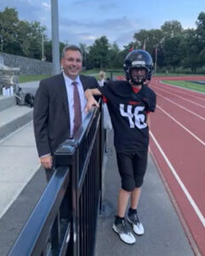
[[[35,250],[42,249],[48,236],[48,230],[52,226],[54,217],[59,211],[60,203],[65,195],[65,188],[69,183],[69,168],[59,167],[43,192],[37,206],[27,220],[20,236],[15,241],[9,252],[9,256],[28,256]],[[38,246],[36,246],[38,243]],[[42,246],[41,246],[42,243]]]

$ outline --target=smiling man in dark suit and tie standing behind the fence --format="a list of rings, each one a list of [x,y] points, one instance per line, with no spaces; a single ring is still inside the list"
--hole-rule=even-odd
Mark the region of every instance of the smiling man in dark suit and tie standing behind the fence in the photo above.
[[[86,116],[84,90],[96,88],[96,79],[79,75],[83,56],[75,46],[65,46],[61,56],[63,73],[40,82],[34,102],[37,152],[47,178],[52,175],[53,154],[65,139],[74,137]],[[76,106],[77,105],[77,106]]]

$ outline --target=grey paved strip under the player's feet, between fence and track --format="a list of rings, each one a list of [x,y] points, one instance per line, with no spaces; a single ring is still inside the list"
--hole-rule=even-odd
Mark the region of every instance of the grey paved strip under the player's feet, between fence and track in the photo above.
[[[97,227],[95,256],[192,256],[191,245],[179,222],[151,157],[145,175],[138,212],[145,227],[144,236],[136,236],[134,245],[123,243],[111,226],[117,209],[120,178],[115,149],[109,132],[107,166],[104,177],[103,212]]]

